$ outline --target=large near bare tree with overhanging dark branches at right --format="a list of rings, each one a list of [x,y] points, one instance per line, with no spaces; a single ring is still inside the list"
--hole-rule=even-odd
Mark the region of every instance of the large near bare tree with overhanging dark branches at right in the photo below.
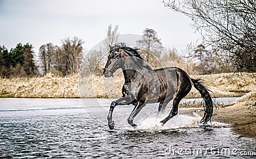
[[[164,6],[193,20],[211,52],[234,71],[256,72],[256,1],[163,1]]]

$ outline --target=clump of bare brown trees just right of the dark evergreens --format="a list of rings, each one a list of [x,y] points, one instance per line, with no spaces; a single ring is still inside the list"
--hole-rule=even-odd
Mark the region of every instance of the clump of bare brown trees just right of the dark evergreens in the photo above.
[[[40,47],[39,57],[44,75],[48,72],[60,76],[78,73],[83,57],[83,40],[74,37],[61,42],[61,46],[46,43]]]

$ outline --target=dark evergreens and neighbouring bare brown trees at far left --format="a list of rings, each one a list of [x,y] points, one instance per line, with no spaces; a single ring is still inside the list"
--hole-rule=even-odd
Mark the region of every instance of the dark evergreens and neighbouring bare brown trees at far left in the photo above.
[[[61,46],[52,43],[42,45],[38,52],[38,63],[35,61],[33,45],[29,43],[18,43],[10,50],[0,45],[0,76],[33,77],[49,72],[65,76],[78,73],[83,57],[83,40],[74,37],[61,42]]]

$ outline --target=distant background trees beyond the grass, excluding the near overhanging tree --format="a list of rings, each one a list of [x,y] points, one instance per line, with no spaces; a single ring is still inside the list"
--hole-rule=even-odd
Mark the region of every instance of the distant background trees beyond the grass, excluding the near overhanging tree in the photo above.
[[[112,29],[108,27],[106,34],[106,50],[108,44],[117,42],[118,26]],[[18,43],[13,49],[6,49],[0,45],[0,75],[2,78],[10,77],[35,77],[46,75],[51,72],[60,77],[73,75],[79,72],[79,66],[83,61],[84,48],[83,40],[77,37],[65,38],[61,40],[62,45],[46,43],[41,45],[35,61],[35,51],[30,43]],[[224,73],[236,71],[236,65],[228,63],[220,56],[207,50],[204,44],[197,45],[189,54],[180,56],[176,49],[166,49],[163,47],[157,32],[154,29],[146,28],[141,39],[134,47],[140,48],[141,56],[152,68],[167,66],[177,66],[191,75],[205,75],[212,73]],[[102,68],[106,61],[102,58],[104,52],[93,52],[90,57],[86,57],[83,69],[88,71],[86,75],[102,75]],[[39,71],[40,70],[40,71]]]

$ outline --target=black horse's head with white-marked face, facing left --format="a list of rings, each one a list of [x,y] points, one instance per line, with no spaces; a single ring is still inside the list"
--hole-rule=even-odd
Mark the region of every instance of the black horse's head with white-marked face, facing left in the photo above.
[[[116,45],[113,47],[109,45],[108,61],[105,68],[103,68],[104,77],[113,77],[113,73],[116,72],[118,68],[122,67],[121,51],[124,50]]]

